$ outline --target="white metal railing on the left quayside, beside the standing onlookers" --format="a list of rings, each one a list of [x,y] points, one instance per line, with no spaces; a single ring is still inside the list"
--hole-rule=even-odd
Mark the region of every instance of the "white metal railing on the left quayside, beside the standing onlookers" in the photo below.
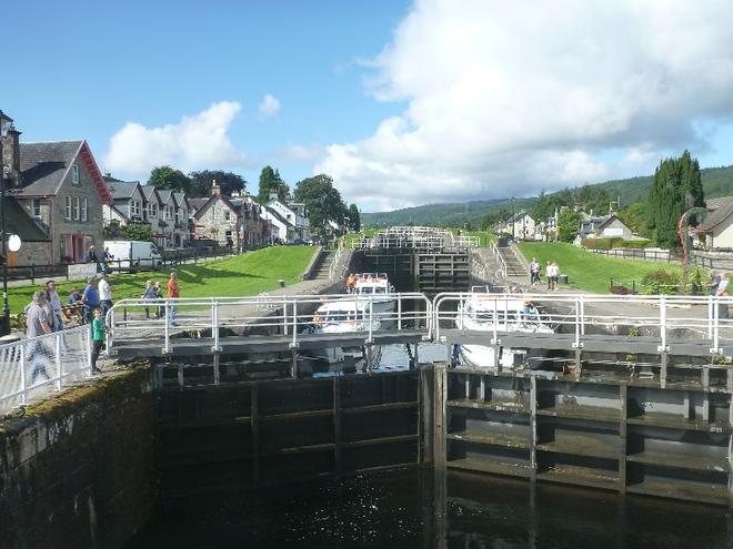
[[[89,326],[0,345],[0,411],[91,375]]]

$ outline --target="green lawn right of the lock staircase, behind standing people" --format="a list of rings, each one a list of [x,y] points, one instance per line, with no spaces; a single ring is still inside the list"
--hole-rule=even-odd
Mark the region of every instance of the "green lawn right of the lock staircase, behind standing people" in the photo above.
[[[522,242],[518,245],[528,261],[536,257],[540,262],[543,281],[548,261],[553,261],[560,267],[560,273],[568,275],[569,286],[599,294],[609,293],[611,278],[635,279],[640,283],[651,271],[664,270],[680,273],[682,268],[675,263],[606,257],[561,242]]]

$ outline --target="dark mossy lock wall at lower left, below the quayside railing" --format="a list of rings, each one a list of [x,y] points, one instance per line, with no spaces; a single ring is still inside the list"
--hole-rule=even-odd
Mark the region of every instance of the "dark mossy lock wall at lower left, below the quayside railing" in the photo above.
[[[118,548],[155,502],[150,369],[0,424],[0,547]]]

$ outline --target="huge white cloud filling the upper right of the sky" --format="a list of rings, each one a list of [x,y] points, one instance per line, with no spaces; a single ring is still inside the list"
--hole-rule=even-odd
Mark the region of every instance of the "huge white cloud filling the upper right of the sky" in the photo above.
[[[416,0],[370,79],[406,109],[314,172],[374,209],[649,173],[733,114],[731,43],[722,0]]]

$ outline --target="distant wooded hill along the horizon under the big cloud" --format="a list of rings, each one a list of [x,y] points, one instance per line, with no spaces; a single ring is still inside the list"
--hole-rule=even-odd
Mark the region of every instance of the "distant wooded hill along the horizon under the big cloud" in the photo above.
[[[727,196],[733,194],[733,165],[722,167],[704,167],[701,177],[705,197]],[[612,180],[604,183],[589,185],[603,189],[611,196],[622,196],[625,204],[643,201],[652,184],[652,175],[629,177],[625,180]],[[553,193],[550,193],[553,194]],[[529,210],[536,197],[516,199],[514,211]],[[441,204],[425,204],[422,206],[405,207],[393,212],[362,213],[361,222],[368,226],[390,225],[434,225],[434,226],[462,226],[464,223],[478,223],[486,212],[505,207],[512,210],[510,199],[493,199],[472,202],[454,202]]]

